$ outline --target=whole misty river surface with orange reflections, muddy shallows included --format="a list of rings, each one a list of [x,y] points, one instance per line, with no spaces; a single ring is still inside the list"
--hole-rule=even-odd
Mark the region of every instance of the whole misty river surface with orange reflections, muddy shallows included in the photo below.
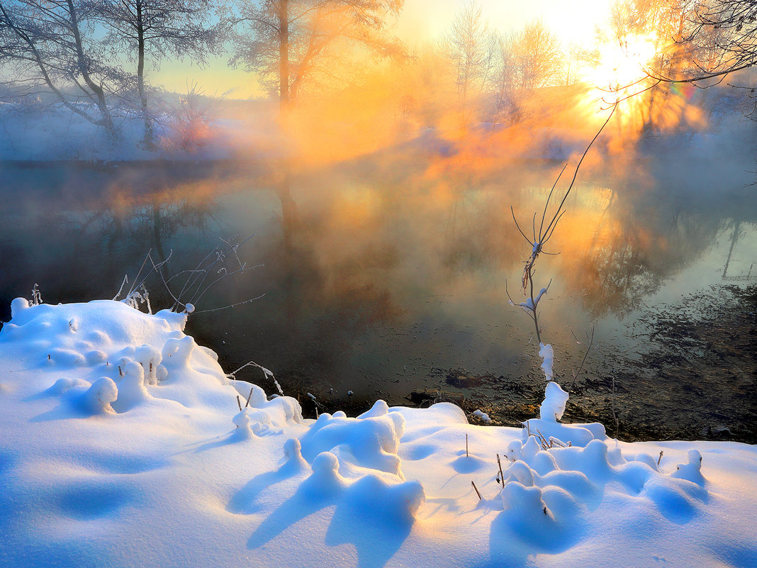
[[[559,254],[537,261],[566,418],[623,438],[757,442],[751,164],[654,155],[582,170],[549,243]],[[263,298],[189,322],[227,372],[254,360],[311,414],[307,392],[320,411],[444,399],[514,425],[544,383],[533,323],[507,302],[506,286],[523,299],[531,248],[510,206],[530,232],[560,167],[421,151],[286,175],[263,162],[5,163],[0,320],[36,282],[48,303],[113,298],[150,250],[173,251],[176,294],[220,239],[254,234],[238,257],[263,266],[221,279],[197,309]],[[173,303],[157,276],[145,284],[154,309]],[[238,378],[273,392],[254,367]]]

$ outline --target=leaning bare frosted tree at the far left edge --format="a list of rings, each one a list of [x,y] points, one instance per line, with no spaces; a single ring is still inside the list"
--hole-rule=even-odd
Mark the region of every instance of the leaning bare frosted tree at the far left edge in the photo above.
[[[46,89],[112,137],[107,99],[123,75],[93,55],[90,16],[78,0],[0,0],[0,64],[23,95]]]

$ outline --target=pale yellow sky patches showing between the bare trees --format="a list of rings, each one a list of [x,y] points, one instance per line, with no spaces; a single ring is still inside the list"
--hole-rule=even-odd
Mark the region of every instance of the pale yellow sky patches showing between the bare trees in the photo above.
[[[410,48],[435,39],[450,27],[455,14],[468,2],[469,0],[405,0],[403,12],[394,23],[395,33]],[[605,19],[612,2],[480,0],[480,4],[484,17],[492,28],[503,32],[518,30],[531,20],[541,18],[568,45],[571,42],[590,44],[595,27]],[[170,91],[186,92],[187,84],[196,81],[206,95],[224,95],[226,98],[265,96],[254,76],[230,68],[227,61],[228,57],[225,56],[209,58],[204,68],[188,60],[164,61],[159,79],[154,80],[154,83],[161,83]]]

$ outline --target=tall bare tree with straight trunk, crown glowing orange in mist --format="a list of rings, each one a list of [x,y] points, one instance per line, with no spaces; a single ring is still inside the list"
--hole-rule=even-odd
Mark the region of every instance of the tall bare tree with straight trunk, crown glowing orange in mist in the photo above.
[[[382,56],[403,55],[386,33],[387,17],[399,14],[403,0],[242,0],[230,18],[236,28],[232,65],[259,73],[279,95],[282,117],[304,84],[329,76],[347,44]]]

